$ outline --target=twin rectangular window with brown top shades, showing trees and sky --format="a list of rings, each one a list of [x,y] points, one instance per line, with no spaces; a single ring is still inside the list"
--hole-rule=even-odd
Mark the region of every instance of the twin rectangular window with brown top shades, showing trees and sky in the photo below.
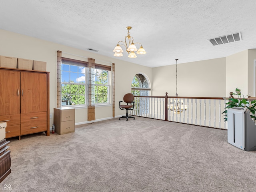
[[[111,67],[95,64],[93,70],[92,99],[95,104],[109,103],[109,75]],[[88,104],[88,63],[62,58],[61,63],[62,106]]]

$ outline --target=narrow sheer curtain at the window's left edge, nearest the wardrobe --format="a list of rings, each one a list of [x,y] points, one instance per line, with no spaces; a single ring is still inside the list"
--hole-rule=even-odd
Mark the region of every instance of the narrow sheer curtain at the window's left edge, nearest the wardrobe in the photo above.
[[[57,51],[57,108],[61,107],[61,56],[62,52]]]

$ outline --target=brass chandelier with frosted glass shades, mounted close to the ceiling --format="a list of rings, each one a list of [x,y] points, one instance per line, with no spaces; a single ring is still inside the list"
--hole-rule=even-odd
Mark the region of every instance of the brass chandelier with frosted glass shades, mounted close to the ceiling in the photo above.
[[[134,43],[133,42],[133,37],[130,36],[130,29],[132,29],[132,27],[128,26],[128,27],[126,27],[126,29],[128,30],[127,36],[125,36],[124,42],[123,41],[118,41],[116,47],[113,50],[113,52],[115,52],[114,56],[116,56],[116,57],[122,57],[123,56],[122,52],[124,52],[124,51],[122,50],[121,46],[125,46],[126,52],[130,53],[128,55],[128,57],[130,57],[130,58],[136,58],[137,57],[136,54],[135,54],[136,51],[137,51],[136,53],[140,54],[140,55],[146,54],[146,51],[142,47],[141,43],[138,43],[138,42]],[[120,44],[120,43],[122,43],[122,44]],[[140,44],[140,48],[137,49],[134,44]]]

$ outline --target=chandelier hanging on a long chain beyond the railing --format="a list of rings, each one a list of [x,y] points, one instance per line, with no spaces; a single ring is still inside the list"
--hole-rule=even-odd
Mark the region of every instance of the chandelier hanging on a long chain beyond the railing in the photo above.
[[[175,96],[178,97],[177,88],[178,88],[178,59],[176,60],[176,94]],[[180,114],[184,110],[188,109],[187,105],[184,105],[183,100],[179,100],[178,98],[171,100],[170,103],[170,110],[173,111],[174,114]]]

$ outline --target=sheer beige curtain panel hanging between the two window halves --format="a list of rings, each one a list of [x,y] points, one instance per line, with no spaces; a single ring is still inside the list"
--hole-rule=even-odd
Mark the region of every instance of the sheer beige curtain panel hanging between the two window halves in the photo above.
[[[95,59],[88,58],[88,116],[87,121],[95,120]]]

